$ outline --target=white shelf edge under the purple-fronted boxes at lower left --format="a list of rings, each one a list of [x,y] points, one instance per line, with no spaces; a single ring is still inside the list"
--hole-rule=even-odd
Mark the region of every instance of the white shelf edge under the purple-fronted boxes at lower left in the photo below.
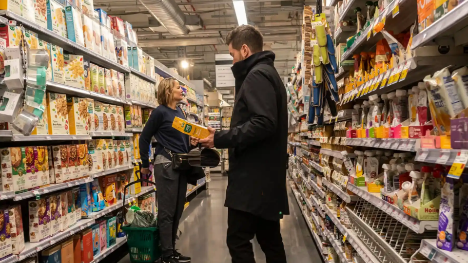
[[[67,230],[62,231],[57,233],[55,236],[46,238],[40,242],[26,242],[24,244],[24,249],[23,251],[20,252],[18,255],[18,260],[23,260],[24,258],[27,258],[29,256],[32,256],[33,254],[53,245],[56,244],[57,242],[73,236],[75,233],[77,233],[80,230],[83,230],[84,228],[93,225],[95,223],[94,219],[81,219],[77,222],[77,224],[67,228]]]

